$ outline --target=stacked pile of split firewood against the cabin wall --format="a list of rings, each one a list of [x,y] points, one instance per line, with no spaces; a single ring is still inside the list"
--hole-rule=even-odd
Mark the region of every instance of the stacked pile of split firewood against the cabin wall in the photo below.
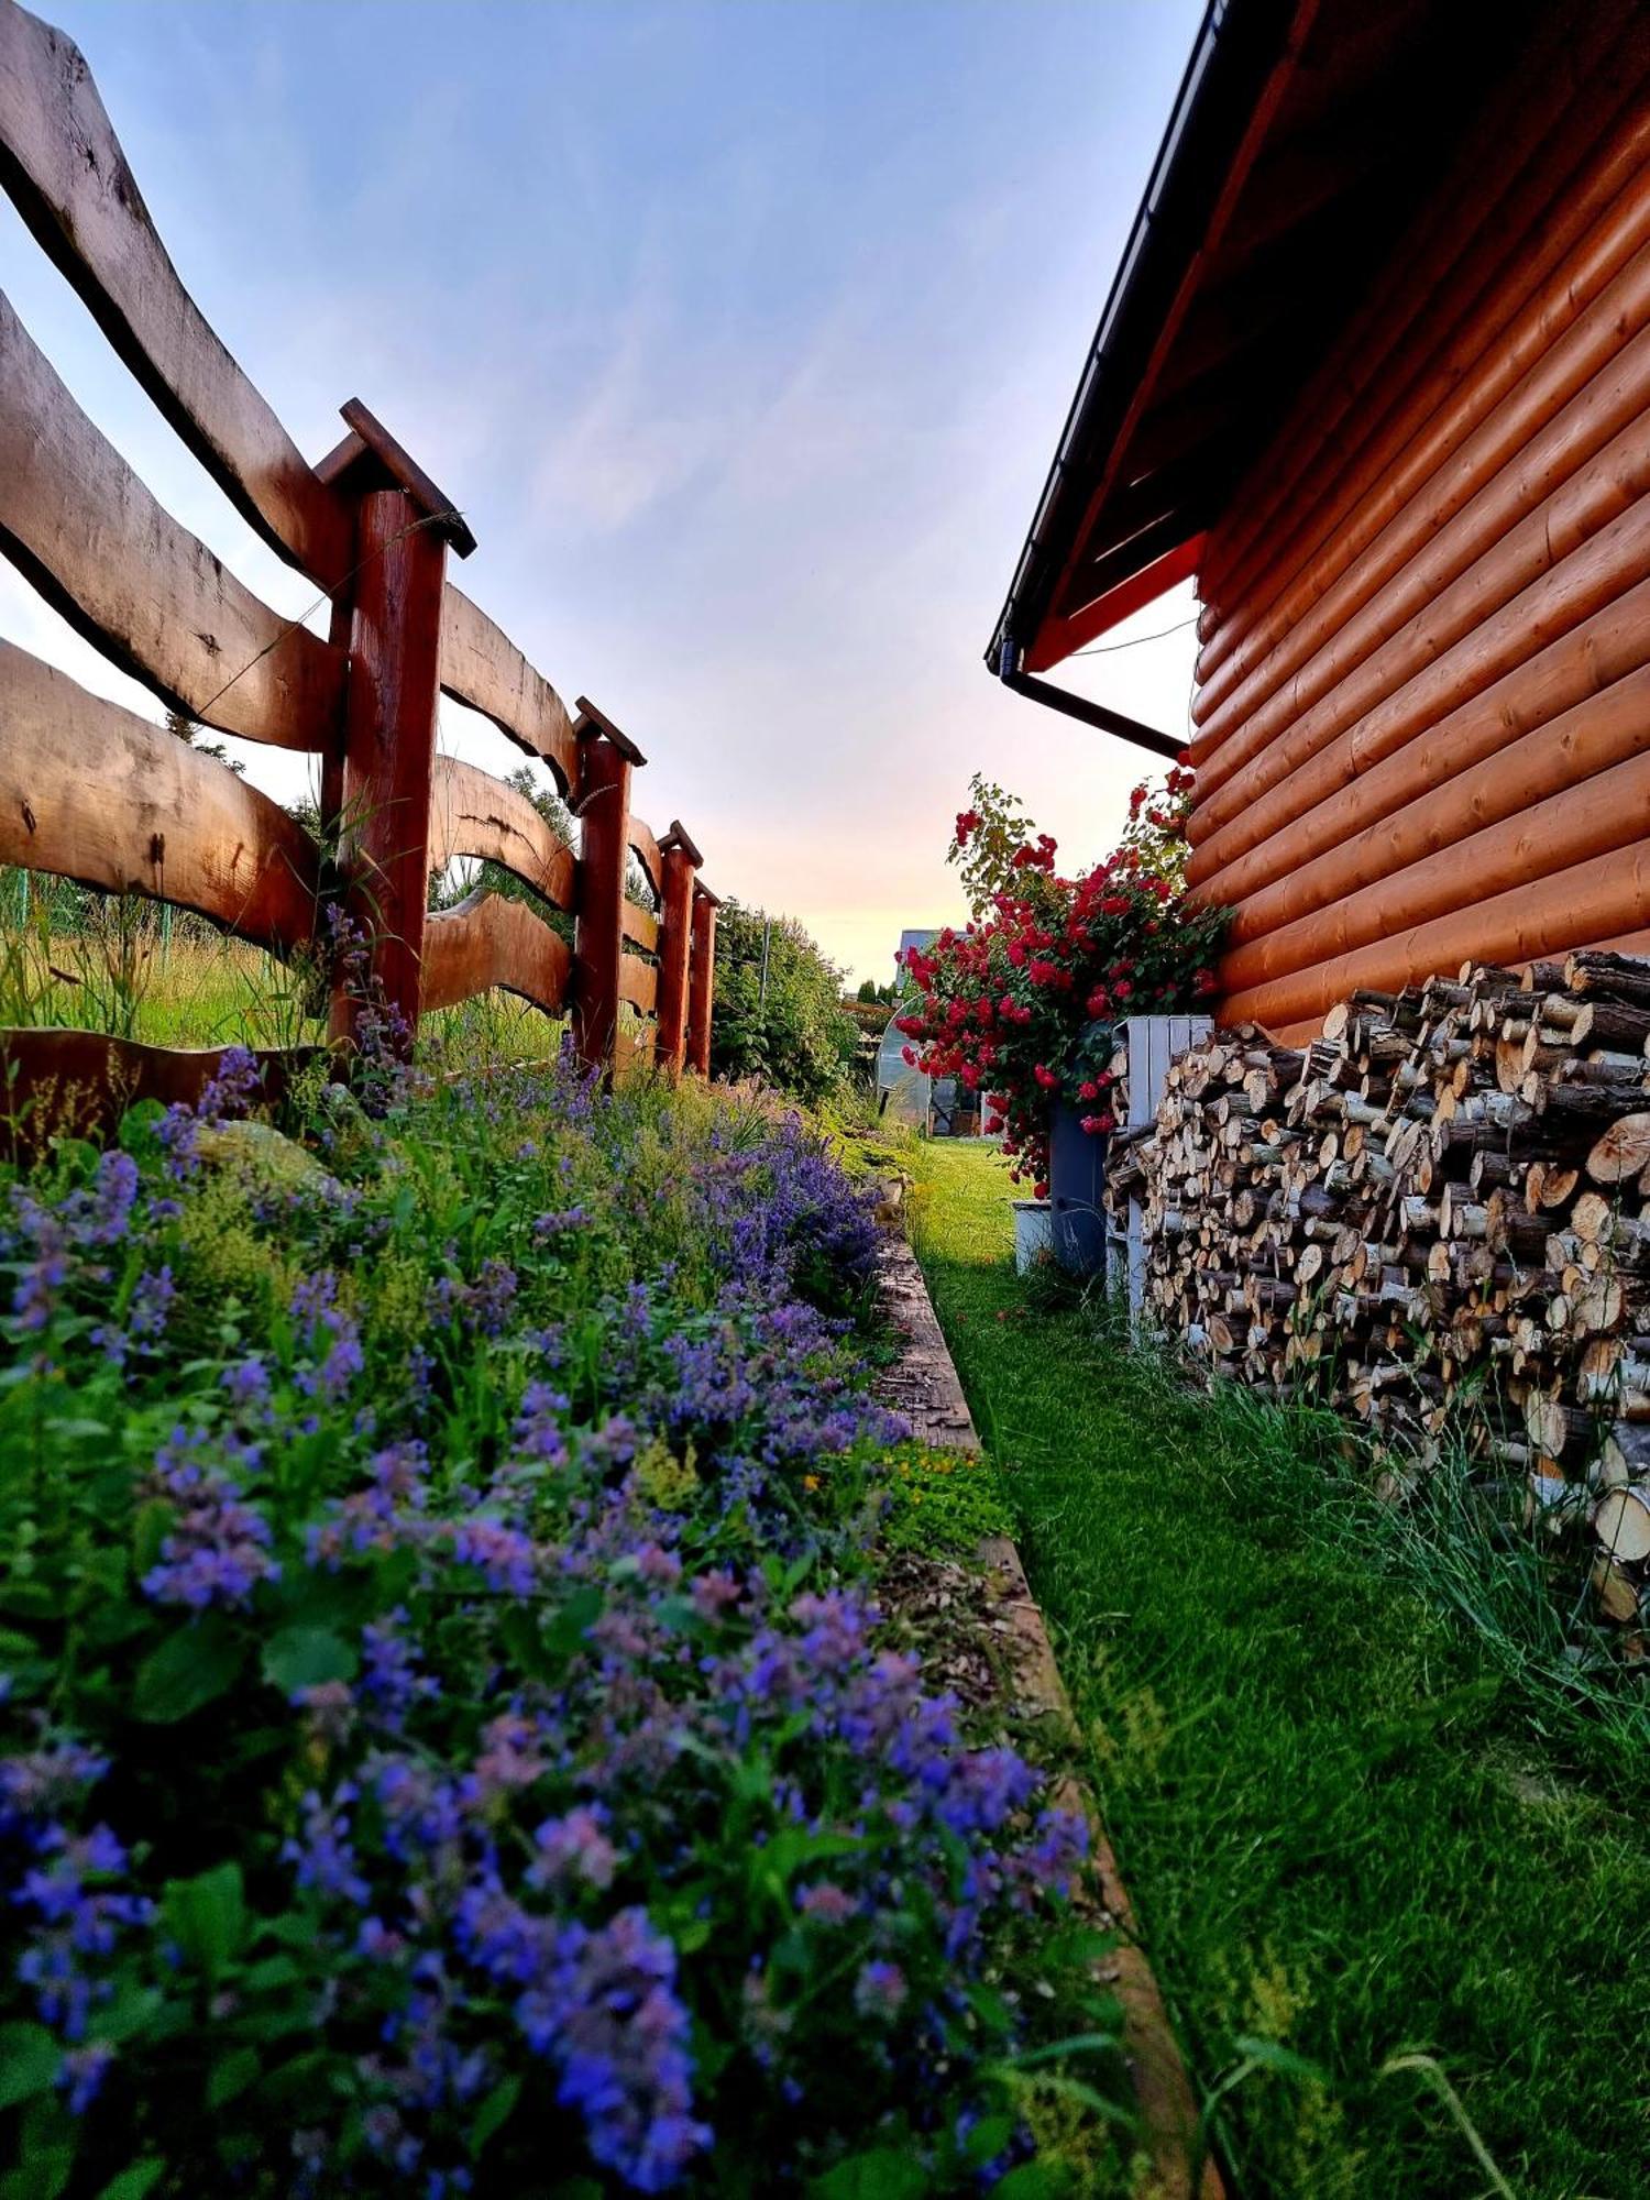
[[[1217,1032],[1113,1155],[1148,1302],[1423,1472],[1445,1428],[1650,1621],[1650,961],[1360,992],[1305,1047]]]

